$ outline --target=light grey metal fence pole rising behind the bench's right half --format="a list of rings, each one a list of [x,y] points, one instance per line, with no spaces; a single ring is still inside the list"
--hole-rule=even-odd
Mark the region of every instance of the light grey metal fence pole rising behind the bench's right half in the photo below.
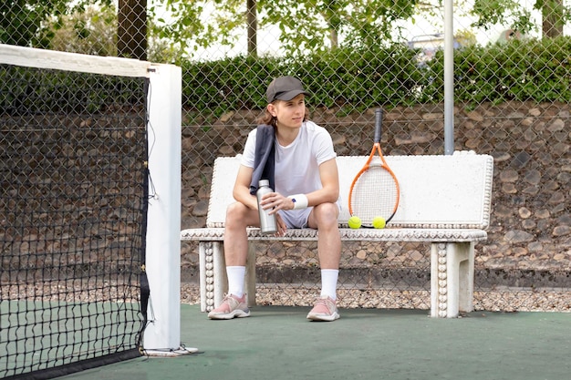
[[[454,6],[444,1],[444,154],[454,152]]]

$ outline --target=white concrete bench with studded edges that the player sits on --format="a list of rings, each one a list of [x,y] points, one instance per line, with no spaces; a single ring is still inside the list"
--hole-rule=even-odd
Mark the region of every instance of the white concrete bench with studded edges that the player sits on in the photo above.
[[[341,240],[430,242],[431,316],[457,317],[460,312],[471,312],[474,244],[487,239],[493,158],[468,151],[449,156],[387,157],[400,182],[399,210],[385,229],[353,230],[347,225],[348,190],[366,159],[337,157],[343,206],[338,218]],[[215,160],[206,227],[181,232],[182,241],[199,242],[202,312],[220,304],[227,291],[223,226],[226,206],[234,201],[232,188],[239,165],[240,156]],[[276,237],[251,228],[248,237],[250,241],[317,241],[317,231],[289,230]],[[254,250],[249,252],[245,283],[248,303],[254,305]]]

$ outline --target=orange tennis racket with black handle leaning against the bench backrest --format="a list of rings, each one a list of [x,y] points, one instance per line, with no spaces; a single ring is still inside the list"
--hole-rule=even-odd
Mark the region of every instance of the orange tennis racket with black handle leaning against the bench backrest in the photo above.
[[[383,111],[375,110],[375,138],[369,159],[360,169],[349,189],[349,213],[361,220],[361,226],[373,228],[376,217],[388,223],[397,212],[400,186],[380,149]],[[383,223],[384,226],[384,223]]]

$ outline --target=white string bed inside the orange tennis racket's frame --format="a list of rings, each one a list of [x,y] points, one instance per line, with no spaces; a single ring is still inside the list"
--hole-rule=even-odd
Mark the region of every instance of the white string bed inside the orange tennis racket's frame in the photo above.
[[[371,167],[358,178],[351,194],[351,209],[363,224],[371,224],[377,216],[388,219],[398,200],[397,183],[389,170]]]

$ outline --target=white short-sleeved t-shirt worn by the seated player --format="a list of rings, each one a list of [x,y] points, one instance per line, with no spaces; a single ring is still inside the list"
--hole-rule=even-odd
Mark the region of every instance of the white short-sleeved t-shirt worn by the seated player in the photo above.
[[[242,165],[248,168],[254,168],[255,135],[256,129],[250,131],[244,146]],[[336,156],[327,129],[305,121],[288,146],[275,139],[275,191],[288,196],[321,189],[319,165]]]

